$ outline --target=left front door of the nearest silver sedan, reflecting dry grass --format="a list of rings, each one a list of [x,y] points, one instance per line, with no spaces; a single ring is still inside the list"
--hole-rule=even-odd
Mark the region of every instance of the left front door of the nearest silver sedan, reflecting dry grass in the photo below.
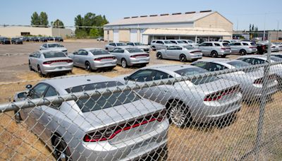
[[[27,94],[29,99],[42,98],[49,86],[46,83],[37,84],[30,92]],[[41,106],[30,107],[22,109],[23,112],[20,113],[23,116],[22,119],[25,120],[25,124],[30,127],[30,129],[35,132],[38,136],[41,135],[42,129],[44,129],[44,124],[39,121],[43,116],[43,111]]]

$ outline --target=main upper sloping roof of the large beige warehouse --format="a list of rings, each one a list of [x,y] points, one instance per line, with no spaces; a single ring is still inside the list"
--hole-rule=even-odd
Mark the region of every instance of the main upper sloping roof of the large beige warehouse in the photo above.
[[[204,12],[190,12],[190,13],[173,13],[162,14],[162,15],[152,15],[152,16],[135,16],[131,18],[123,18],[121,20],[116,20],[112,23],[108,23],[105,26],[111,25],[134,25],[134,24],[150,24],[150,23],[188,23],[195,22],[200,18],[209,16],[215,11],[204,11]]]

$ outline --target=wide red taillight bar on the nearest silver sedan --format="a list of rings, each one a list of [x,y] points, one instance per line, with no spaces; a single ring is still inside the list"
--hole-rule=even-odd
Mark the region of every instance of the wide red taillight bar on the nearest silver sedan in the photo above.
[[[137,126],[141,126],[143,124],[148,124],[152,121],[163,121],[166,117],[166,110],[161,112],[157,112],[156,114],[149,115],[145,118],[137,119],[135,121],[130,121],[126,124],[121,124],[118,126],[114,126],[111,128],[104,129],[102,131],[96,131],[93,133],[88,133],[84,136],[83,141],[85,142],[97,142],[97,141],[107,141],[111,138],[114,138],[121,131],[127,131],[129,129],[133,129]]]

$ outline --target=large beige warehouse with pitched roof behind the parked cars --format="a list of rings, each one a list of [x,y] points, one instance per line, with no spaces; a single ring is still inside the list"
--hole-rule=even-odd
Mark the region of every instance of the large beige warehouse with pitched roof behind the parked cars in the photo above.
[[[231,39],[233,23],[216,11],[200,11],[135,16],[104,25],[104,39],[109,42],[142,42],[152,40]]]

